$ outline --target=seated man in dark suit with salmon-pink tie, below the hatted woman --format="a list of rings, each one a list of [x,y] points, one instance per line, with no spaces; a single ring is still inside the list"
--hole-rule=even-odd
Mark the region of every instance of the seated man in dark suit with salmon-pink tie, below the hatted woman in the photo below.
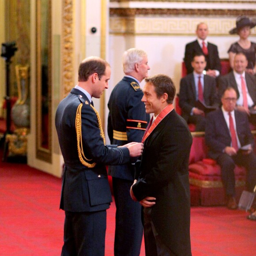
[[[248,61],[244,53],[237,53],[234,57],[234,69],[219,78],[219,95],[227,87],[237,92],[237,109],[250,115],[249,109],[256,109],[256,77],[245,72]]]

